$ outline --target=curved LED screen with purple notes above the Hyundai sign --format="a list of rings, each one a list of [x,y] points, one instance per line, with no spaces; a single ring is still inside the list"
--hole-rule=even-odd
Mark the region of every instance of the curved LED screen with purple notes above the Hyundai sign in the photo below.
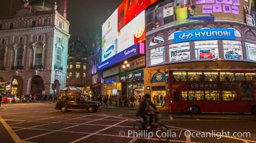
[[[146,10],[149,34],[179,24],[204,21],[237,21],[256,27],[253,0],[165,0]]]

